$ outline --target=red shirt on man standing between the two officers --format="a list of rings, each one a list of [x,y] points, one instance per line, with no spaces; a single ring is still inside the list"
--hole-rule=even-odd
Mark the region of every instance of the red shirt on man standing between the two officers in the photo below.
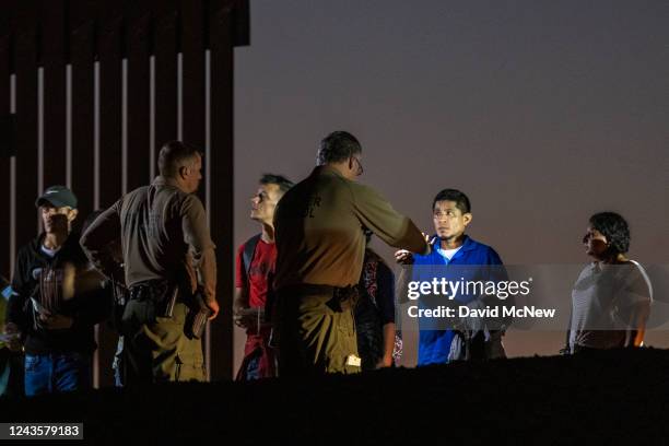
[[[267,302],[267,291],[269,289],[268,277],[269,274],[273,274],[274,265],[277,263],[277,245],[273,243],[270,244],[262,242],[262,239],[258,240],[256,251],[254,253],[251,265],[248,270],[248,281],[246,277],[246,268],[244,266],[245,246],[246,244],[243,244],[237,250],[237,273],[235,277],[235,286],[246,287],[248,283],[248,305],[251,308],[265,307],[265,303]]]

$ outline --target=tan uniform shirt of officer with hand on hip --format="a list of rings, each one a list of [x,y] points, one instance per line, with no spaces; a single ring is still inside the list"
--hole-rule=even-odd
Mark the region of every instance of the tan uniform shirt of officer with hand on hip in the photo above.
[[[156,177],[103,212],[81,238],[89,259],[105,275],[120,280],[121,270],[108,245],[120,239],[125,283],[175,278],[184,270],[195,291],[200,270],[204,297],[215,298],[216,260],[207,226],[207,214],[198,197],[180,190],[168,178]]]

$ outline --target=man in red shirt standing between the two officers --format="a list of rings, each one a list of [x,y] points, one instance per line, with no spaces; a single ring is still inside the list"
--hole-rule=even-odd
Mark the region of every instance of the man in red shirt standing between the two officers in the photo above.
[[[265,310],[273,292],[271,283],[277,262],[274,208],[292,186],[281,175],[265,174],[258,192],[251,198],[250,218],[261,224],[262,232],[246,240],[237,251],[234,319],[246,329],[244,361],[237,380],[277,376],[275,352],[269,347],[271,326]]]

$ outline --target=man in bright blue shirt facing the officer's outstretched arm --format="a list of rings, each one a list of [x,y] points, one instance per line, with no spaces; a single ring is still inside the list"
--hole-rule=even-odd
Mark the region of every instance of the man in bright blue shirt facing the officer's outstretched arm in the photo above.
[[[413,263],[413,280],[431,281],[434,277],[451,281],[497,282],[506,279],[502,259],[488,245],[465,234],[471,223],[471,204],[465,193],[444,189],[432,204],[436,234],[431,238],[432,251],[427,256],[412,255],[406,250],[395,254],[400,263]],[[500,304],[496,296],[476,292],[458,293],[459,305],[484,308]],[[496,302],[495,302],[496,301]],[[504,304],[509,304],[507,300]],[[508,321],[485,318],[463,318],[457,329],[433,321],[420,322],[418,365],[443,364],[454,360],[484,360],[505,357],[502,336]]]

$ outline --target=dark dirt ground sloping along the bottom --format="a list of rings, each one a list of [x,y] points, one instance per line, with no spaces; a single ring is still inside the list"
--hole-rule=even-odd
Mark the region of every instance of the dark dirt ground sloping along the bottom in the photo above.
[[[608,351],[5,399],[0,416],[83,422],[94,444],[665,443],[667,371],[667,350]]]

